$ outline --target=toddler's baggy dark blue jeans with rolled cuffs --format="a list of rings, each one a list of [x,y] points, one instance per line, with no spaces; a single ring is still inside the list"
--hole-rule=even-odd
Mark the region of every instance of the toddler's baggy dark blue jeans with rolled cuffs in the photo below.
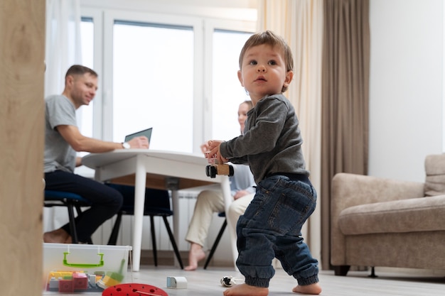
[[[301,237],[301,227],[315,207],[316,191],[309,180],[274,175],[259,182],[237,223],[237,267],[247,285],[269,287],[274,258],[299,285],[318,283],[318,261]]]

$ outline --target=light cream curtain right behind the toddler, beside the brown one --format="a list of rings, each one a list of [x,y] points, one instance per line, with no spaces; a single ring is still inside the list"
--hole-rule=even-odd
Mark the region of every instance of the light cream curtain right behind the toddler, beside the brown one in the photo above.
[[[321,261],[321,50],[322,0],[261,0],[258,31],[282,35],[294,54],[295,73],[286,97],[299,117],[306,168],[318,191],[318,205],[303,229],[312,255]]]

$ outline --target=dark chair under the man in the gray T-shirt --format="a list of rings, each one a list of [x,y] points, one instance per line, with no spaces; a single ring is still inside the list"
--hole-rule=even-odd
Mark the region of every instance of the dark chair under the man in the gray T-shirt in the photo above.
[[[77,215],[80,215],[82,214],[81,207],[90,207],[90,201],[72,192],[45,190],[43,205],[45,207],[67,207],[71,238],[73,243],[78,243],[74,209],[76,209]],[[88,239],[87,243],[92,243],[91,239]]]

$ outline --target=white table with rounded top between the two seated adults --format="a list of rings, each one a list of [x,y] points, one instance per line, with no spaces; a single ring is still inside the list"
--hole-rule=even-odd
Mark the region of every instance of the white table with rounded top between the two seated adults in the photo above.
[[[144,217],[145,187],[167,189],[173,195],[173,233],[178,241],[178,190],[220,183],[227,212],[232,196],[227,176],[205,175],[208,161],[203,155],[149,149],[122,149],[107,153],[91,153],[82,164],[95,170],[95,180],[132,184],[134,193],[133,271],[139,271],[141,261],[142,219]],[[237,259],[236,234],[227,219],[232,240],[233,262]],[[235,265],[236,266],[236,265]]]

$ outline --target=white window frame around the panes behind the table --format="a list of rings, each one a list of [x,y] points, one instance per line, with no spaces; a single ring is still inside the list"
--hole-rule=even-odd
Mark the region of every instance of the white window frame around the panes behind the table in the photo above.
[[[82,1],[83,2],[83,1]],[[103,3],[102,3],[103,2]],[[97,3],[103,4],[98,8]],[[100,75],[99,89],[93,111],[93,136],[105,141],[112,140],[112,28],[114,20],[166,23],[168,25],[192,26],[195,34],[194,102],[193,102],[193,152],[212,134],[212,35],[215,29],[254,32],[257,26],[254,9],[196,9],[196,7],[172,6],[147,8],[141,1],[131,9],[117,9],[121,1],[93,0],[81,3],[81,14],[95,23],[95,62]],[[122,2],[123,3],[123,2]],[[93,7],[94,6],[94,7]],[[130,6],[127,6],[130,7]],[[167,11],[168,13],[159,13]],[[236,73],[234,73],[236,75]],[[198,116],[198,114],[201,114]]]

